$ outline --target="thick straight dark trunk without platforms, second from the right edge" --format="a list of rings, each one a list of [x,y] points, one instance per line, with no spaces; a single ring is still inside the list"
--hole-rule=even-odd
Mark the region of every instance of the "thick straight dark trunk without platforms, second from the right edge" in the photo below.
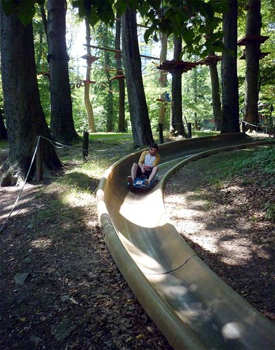
[[[236,69],[237,0],[230,0],[229,10],[223,15],[225,52],[221,60],[223,89],[223,121],[221,133],[239,133],[239,87]]]

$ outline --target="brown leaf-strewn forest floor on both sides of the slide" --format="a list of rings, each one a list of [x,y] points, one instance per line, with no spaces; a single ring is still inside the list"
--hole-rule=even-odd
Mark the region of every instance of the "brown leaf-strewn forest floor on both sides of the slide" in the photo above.
[[[229,154],[181,168],[166,184],[165,207],[201,259],[275,320],[274,222],[263,216],[275,188],[267,187],[259,172],[246,174],[245,182],[233,177],[222,187],[210,186],[203,170]],[[64,188],[58,182],[25,185],[0,236],[1,350],[172,349],[102,239],[98,180],[87,175],[89,195],[69,202],[61,200]],[[19,190],[0,188],[0,226]]]

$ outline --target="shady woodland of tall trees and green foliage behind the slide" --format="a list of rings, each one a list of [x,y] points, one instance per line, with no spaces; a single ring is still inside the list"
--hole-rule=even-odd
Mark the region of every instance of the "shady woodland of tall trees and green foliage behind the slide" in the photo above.
[[[199,110],[195,107],[200,100],[198,89],[202,81],[199,80],[201,67],[209,67],[212,89],[208,111],[212,106],[212,113],[208,114],[208,118],[214,120],[215,129],[221,133],[240,132],[240,106],[243,101],[243,129],[257,129],[264,122],[265,127],[272,130],[274,113],[270,98],[274,96],[274,70],[271,64],[273,53],[261,50],[262,45],[274,40],[273,36],[262,34],[263,23],[268,34],[274,28],[274,9],[270,0],[250,0],[243,4],[236,0],[214,3],[186,1],[183,7],[177,6],[176,0],[137,1],[135,8],[131,1],[128,3],[124,0],[96,3],[92,7],[92,2],[89,1],[73,1],[73,4],[76,6],[74,15],[76,16],[77,10],[78,16],[86,19],[87,29],[87,76],[76,83],[85,90],[85,109],[82,111],[86,116],[83,115],[81,121],[72,104],[76,99],[76,89],[70,89],[72,83],[65,38],[68,7],[71,3],[65,0],[34,1],[31,4],[22,1],[17,6],[14,1],[3,1],[1,5],[1,138],[5,138],[6,130],[10,142],[9,157],[3,166],[5,174],[2,183],[16,184],[25,177],[38,135],[69,144],[78,140],[82,134],[79,127],[76,132],[76,124],[83,125],[82,131],[96,131],[99,129],[96,124],[104,124],[107,131],[123,132],[129,116],[134,148],[153,141],[152,125],[159,131],[168,128],[173,135],[186,137],[186,122],[199,128],[201,106]],[[71,7],[70,9],[72,11]],[[147,87],[144,86],[142,76],[141,58],[144,55],[140,54],[140,42],[137,40],[137,12],[139,21],[142,19],[145,23],[144,42],[151,43],[153,47],[154,40],[160,39],[161,56],[157,63],[159,98],[155,98],[157,102],[153,106],[147,102],[150,103],[150,100],[146,96]],[[241,33],[237,28],[239,32],[241,29]],[[109,34],[102,36],[100,31]],[[115,85],[111,84],[111,68],[109,72],[107,69],[108,94],[100,98],[99,91],[95,95],[94,81],[90,75],[91,65],[97,61],[97,57],[90,51],[92,47],[98,47],[90,45],[94,34],[104,39],[104,47],[115,50],[115,57],[112,58],[108,50],[103,50],[104,66],[114,66],[117,75],[113,80],[116,80],[119,88],[117,94],[111,93]],[[243,38],[238,41],[240,34]],[[245,91],[241,98],[241,80],[237,69],[239,46],[245,47],[243,57],[246,67],[243,85]],[[167,60],[167,47],[173,50],[172,60]],[[18,52],[21,52],[20,60]],[[115,62],[112,63],[114,58]],[[260,70],[262,58],[265,61]],[[14,62],[17,64],[14,65]],[[220,71],[217,70],[218,65]],[[43,78],[46,76],[49,79],[48,91],[42,89],[41,70]],[[192,102],[188,109],[190,111],[192,105],[192,112],[186,114],[184,111],[188,103],[184,104],[182,82],[188,71],[193,71],[194,74],[192,85],[188,84],[187,87],[189,92],[192,89]],[[170,98],[166,99],[168,85]],[[15,86],[19,89],[15,89]],[[100,122],[98,117],[95,121],[95,102],[91,98],[91,92],[94,98],[100,100],[100,115],[103,118]],[[124,98],[125,93],[127,98]],[[264,94],[261,95],[264,106],[261,115],[259,94]],[[187,95],[190,97],[190,94]],[[161,134],[159,138],[161,141]],[[50,170],[62,166],[49,142],[43,143],[43,162]],[[32,175],[34,169],[30,172],[30,177]]]

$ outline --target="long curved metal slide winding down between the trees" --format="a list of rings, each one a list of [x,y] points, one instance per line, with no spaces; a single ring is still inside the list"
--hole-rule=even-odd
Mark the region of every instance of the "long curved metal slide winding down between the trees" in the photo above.
[[[104,240],[142,307],[175,349],[275,349],[274,324],[199,259],[170,222],[162,197],[166,179],[185,162],[250,145],[252,139],[241,133],[162,144],[162,179],[148,193],[126,187],[141,152],[113,164],[100,180],[97,206]]]

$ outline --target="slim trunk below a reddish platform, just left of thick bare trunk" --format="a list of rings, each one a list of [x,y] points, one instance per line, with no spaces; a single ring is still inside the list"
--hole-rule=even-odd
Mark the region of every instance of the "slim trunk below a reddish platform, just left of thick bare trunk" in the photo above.
[[[217,131],[221,131],[221,96],[219,92],[219,75],[217,71],[217,62],[209,63],[211,94],[212,94],[212,111]]]

